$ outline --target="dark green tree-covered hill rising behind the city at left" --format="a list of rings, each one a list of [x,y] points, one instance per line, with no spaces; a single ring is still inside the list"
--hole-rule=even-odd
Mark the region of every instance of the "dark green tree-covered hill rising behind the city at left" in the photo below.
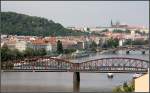
[[[1,12],[1,34],[68,36],[85,35],[85,32],[72,31],[46,18],[28,16],[15,12]]]

